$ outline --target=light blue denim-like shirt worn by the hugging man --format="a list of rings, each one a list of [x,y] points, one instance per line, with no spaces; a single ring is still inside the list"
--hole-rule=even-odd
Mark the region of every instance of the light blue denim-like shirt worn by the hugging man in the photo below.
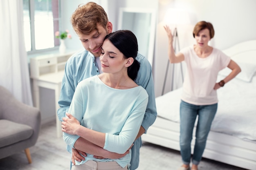
[[[141,124],[146,133],[157,116],[152,67],[146,57],[139,53],[136,60],[140,63],[140,68],[135,83],[145,88],[148,93],[148,105]],[[97,65],[94,55],[89,51],[83,49],[67,60],[61,85],[61,95],[58,101],[61,107],[57,112],[60,121],[65,117],[65,113],[68,112],[77,84],[83,79],[94,75],[99,75],[99,66]],[[139,137],[139,139],[134,142],[134,146],[132,146],[130,170],[135,170],[139,166],[139,148],[141,145],[141,137]],[[67,146],[67,150],[71,152],[72,148]]]

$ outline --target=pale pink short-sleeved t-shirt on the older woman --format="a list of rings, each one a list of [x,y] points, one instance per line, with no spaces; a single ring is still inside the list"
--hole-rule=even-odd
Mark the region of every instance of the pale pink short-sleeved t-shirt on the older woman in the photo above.
[[[194,105],[217,103],[217,91],[213,88],[218,72],[228,66],[230,57],[213,48],[208,57],[200,58],[193,46],[182,49],[180,53],[184,55],[187,66],[181,99]]]

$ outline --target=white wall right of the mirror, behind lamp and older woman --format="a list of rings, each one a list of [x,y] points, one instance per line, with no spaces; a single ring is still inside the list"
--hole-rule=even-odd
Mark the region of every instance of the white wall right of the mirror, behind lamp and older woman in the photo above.
[[[215,29],[211,45],[223,50],[239,42],[256,39],[255,7],[255,0],[159,0],[159,23],[157,24],[153,65],[156,96],[162,93],[168,62],[168,38],[161,22],[168,8],[182,8],[194,13],[193,25],[201,20],[211,22]],[[193,25],[177,26],[181,49],[193,44]],[[169,69],[168,77],[171,77],[171,69]],[[180,78],[180,75],[175,77],[175,87],[181,86],[181,82],[177,82],[176,78]],[[170,81],[168,79],[166,83],[166,91],[170,90]]]

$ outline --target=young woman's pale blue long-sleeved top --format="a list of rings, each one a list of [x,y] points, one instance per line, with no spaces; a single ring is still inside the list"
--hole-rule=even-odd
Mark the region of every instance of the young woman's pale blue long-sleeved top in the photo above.
[[[143,120],[148,94],[137,86],[130,89],[111,88],[93,76],[81,81],[76,87],[68,113],[79,120],[82,126],[106,133],[104,149],[124,153],[134,142]],[[63,133],[64,141],[74,147],[77,135]],[[88,154],[88,160],[117,161],[125,167],[130,163],[131,153],[121,159],[95,159]]]

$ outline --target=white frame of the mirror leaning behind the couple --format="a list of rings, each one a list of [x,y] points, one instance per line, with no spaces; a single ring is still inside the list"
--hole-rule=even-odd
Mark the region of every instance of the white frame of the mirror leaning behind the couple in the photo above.
[[[124,29],[123,25],[123,14],[126,13],[150,13],[150,32],[149,32],[149,42],[148,42],[148,55],[145,56],[153,66],[153,57],[154,57],[154,47],[155,47],[155,29],[156,29],[156,11],[153,8],[120,8],[119,9],[119,20],[118,20],[118,30]],[[133,30],[130,30],[133,31]]]

